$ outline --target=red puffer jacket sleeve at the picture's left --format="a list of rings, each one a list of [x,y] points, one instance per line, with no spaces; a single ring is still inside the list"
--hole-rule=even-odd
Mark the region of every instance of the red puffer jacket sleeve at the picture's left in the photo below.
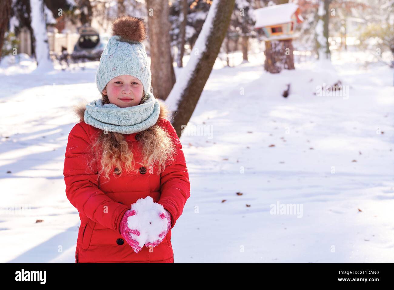
[[[93,158],[90,144],[89,134],[81,123],[76,124],[69,133],[64,160],[66,195],[80,213],[120,234],[120,222],[129,207],[113,201],[99,189],[97,164],[89,166]]]

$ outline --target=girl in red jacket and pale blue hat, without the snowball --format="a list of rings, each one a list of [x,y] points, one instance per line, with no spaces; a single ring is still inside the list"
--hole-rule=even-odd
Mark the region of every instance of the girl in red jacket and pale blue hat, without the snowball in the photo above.
[[[96,73],[102,98],[76,108],[80,122],[65,152],[66,195],[81,219],[75,261],[173,263],[171,229],[190,197],[182,144],[151,93],[145,22],[120,17],[112,35]],[[163,206],[168,232],[156,247],[134,251],[125,220],[147,196]]]

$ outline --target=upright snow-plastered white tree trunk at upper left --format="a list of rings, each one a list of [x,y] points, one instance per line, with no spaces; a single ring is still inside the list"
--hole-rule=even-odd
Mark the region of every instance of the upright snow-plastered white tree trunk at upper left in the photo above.
[[[46,34],[46,20],[43,0],[30,0],[32,28],[35,38],[35,59],[37,70],[52,70],[53,64],[49,57],[48,36]]]

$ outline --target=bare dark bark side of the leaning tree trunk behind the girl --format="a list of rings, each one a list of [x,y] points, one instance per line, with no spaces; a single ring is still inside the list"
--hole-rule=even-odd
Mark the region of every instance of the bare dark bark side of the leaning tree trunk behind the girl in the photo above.
[[[203,35],[203,27],[203,30],[199,35],[199,38],[206,37],[204,40],[206,49],[199,52],[198,61],[195,63],[195,66],[191,71],[190,77],[186,82],[186,86],[181,90],[181,95],[177,102],[177,109],[174,111],[174,120],[172,125],[177,131],[178,137],[181,135],[181,130],[183,129],[182,125],[186,125],[189,122],[200,95],[203,92],[205,83],[212,71],[217,54],[219,53],[223,39],[226,35],[227,28],[229,27],[234,4],[235,0],[216,0],[212,3],[210,9],[214,8],[214,5],[216,7],[215,10],[212,10],[212,13],[215,13],[212,19],[212,27],[210,27],[209,34],[205,36]],[[210,12],[211,11],[208,13],[207,19],[210,16]],[[197,40],[196,43],[198,42],[199,41]],[[194,54],[194,52],[192,54]],[[192,59],[190,59],[190,61],[192,61]],[[185,69],[187,68],[188,66],[185,67]]]

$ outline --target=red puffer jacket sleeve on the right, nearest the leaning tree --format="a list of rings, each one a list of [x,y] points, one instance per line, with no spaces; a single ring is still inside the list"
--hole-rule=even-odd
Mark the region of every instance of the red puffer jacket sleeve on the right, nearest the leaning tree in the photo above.
[[[171,214],[171,228],[182,214],[186,200],[190,197],[190,181],[182,144],[177,132],[168,120],[165,120],[165,129],[176,145],[175,161],[165,167],[160,175],[160,199],[158,201],[165,210]]]

